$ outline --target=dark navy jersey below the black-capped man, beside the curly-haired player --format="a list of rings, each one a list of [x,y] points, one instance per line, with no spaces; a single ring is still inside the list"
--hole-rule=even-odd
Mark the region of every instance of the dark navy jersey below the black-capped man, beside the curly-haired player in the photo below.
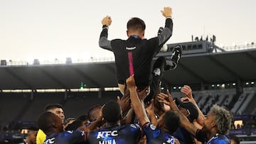
[[[178,139],[181,144],[194,144],[193,136],[186,131],[186,129],[179,127],[176,132],[174,132],[174,137]]]

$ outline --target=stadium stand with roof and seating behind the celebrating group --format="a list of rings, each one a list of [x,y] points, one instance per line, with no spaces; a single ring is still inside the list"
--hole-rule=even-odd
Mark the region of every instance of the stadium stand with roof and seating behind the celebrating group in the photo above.
[[[242,121],[240,128],[230,133],[239,135],[244,141],[256,140],[256,68],[253,67],[256,65],[256,49],[213,52],[211,49],[215,45],[206,41],[182,45],[186,50],[180,65],[164,75],[165,87],[171,89],[172,96],[184,96],[178,87],[190,85],[194,99],[204,114],[213,104],[225,106],[233,112],[235,121]],[[169,52],[158,56],[170,55],[172,45],[169,47]],[[12,135],[20,138],[20,131],[14,131],[16,126],[33,125],[46,104],[60,103],[66,117],[77,117],[87,113],[95,104],[117,99],[119,91],[104,90],[106,87],[117,87],[114,72],[113,61],[1,65],[0,142]],[[22,89],[31,92],[23,92]],[[39,92],[38,89],[64,89],[66,92]],[[86,89],[86,92],[78,89]],[[92,92],[90,89],[98,90]]]

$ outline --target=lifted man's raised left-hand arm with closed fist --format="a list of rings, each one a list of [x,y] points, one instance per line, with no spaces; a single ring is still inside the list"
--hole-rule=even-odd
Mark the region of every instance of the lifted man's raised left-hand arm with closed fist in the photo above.
[[[108,35],[107,31],[111,23],[112,23],[112,19],[110,16],[105,16],[105,18],[102,19],[102,32],[100,33],[100,40],[99,40],[100,48],[110,50],[110,51],[112,51],[112,47],[110,44],[111,41],[107,40],[107,35]]]

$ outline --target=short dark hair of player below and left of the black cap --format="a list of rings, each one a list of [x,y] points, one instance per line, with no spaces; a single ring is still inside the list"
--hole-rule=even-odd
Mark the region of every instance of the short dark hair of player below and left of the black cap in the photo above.
[[[166,111],[164,114],[164,126],[170,134],[174,133],[181,125],[181,121],[173,111]]]

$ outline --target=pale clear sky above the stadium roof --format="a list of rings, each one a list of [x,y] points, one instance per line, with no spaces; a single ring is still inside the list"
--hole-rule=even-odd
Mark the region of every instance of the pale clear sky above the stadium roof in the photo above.
[[[109,39],[127,39],[129,18],[146,23],[145,37],[164,26],[164,6],[173,11],[174,31],[167,43],[201,35],[215,45],[256,42],[255,0],[0,0],[0,60],[52,60],[112,57],[98,46],[102,18],[112,17]]]

